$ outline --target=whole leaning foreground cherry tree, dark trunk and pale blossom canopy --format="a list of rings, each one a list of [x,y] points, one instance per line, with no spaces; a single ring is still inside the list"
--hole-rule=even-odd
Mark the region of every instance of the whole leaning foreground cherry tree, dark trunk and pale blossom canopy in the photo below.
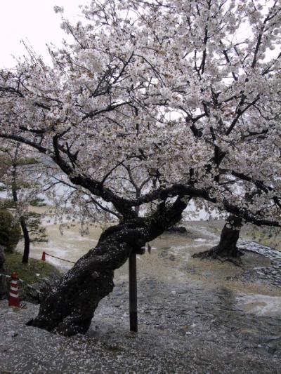
[[[0,83],[0,137],[37,149],[84,208],[119,221],[30,322],[63,335],[89,328],[114,269],[191,199],[280,227],[280,1],[105,0],[81,11],[84,22],[63,19],[68,41],[49,47],[52,67],[30,53]]]

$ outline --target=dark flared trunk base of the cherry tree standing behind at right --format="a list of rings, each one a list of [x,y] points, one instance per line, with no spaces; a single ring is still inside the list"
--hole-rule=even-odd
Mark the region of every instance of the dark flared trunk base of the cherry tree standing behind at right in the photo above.
[[[193,255],[195,258],[217,258],[218,260],[231,260],[238,259],[242,255],[241,251],[237,248],[237,241],[240,235],[242,226],[242,219],[230,215],[226,224],[221,230],[221,238],[217,246]]]

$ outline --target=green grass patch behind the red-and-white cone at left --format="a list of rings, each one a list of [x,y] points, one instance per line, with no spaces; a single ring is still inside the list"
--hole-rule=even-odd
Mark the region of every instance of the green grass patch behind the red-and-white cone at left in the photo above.
[[[18,252],[5,253],[7,274],[16,272],[18,277],[28,284],[36,283],[39,278],[44,278],[52,273],[58,273],[53,265],[30,258],[28,264],[22,264],[22,254]],[[39,275],[36,275],[39,274]]]

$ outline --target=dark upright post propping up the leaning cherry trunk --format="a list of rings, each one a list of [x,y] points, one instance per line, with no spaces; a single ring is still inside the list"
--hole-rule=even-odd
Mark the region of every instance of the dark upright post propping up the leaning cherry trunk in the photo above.
[[[136,253],[129,255],[129,312],[130,331],[138,332],[138,302],[136,283]]]

